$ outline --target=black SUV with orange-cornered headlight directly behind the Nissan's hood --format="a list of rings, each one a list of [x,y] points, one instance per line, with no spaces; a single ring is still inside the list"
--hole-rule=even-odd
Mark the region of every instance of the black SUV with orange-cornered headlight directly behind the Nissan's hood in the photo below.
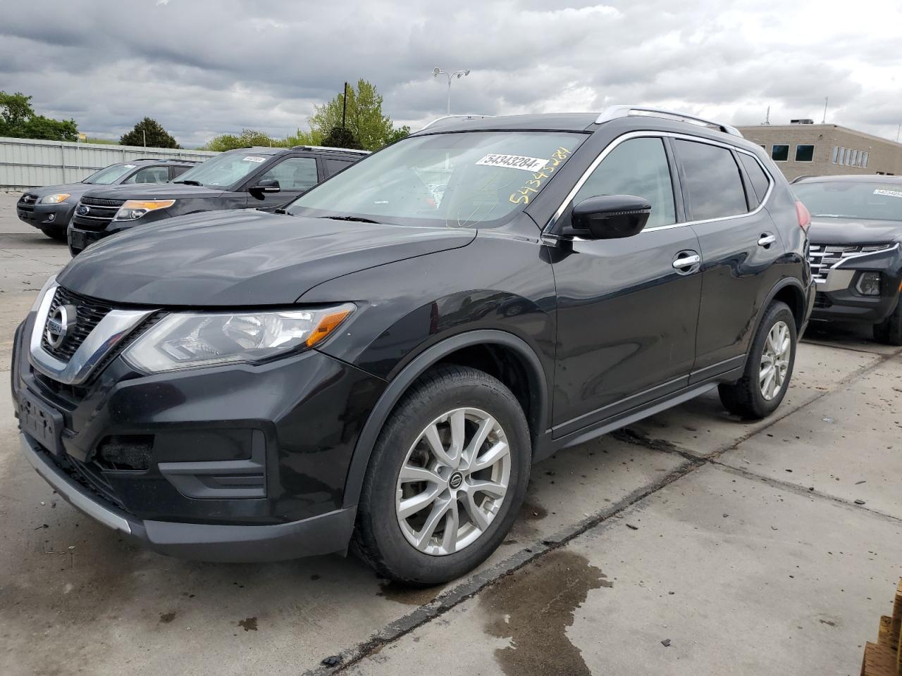
[[[69,225],[69,251],[75,256],[91,242],[171,216],[275,209],[366,154],[315,146],[240,148],[210,158],[165,186],[91,190]]]

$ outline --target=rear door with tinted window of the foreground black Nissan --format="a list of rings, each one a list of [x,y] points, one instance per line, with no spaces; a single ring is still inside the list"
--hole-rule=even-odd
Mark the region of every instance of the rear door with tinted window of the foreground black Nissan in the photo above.
[[[704,139],[671,142],[686,218],[698,235],[703,261],[692,376],[697,381],[744,361],[754,319],[777,281],[774,264],[783,254],[783,242],[760,206],[769,195],[771,179],[754,156]],[[746,162],[760,172],[754,184],[743,167]],[[764,193],[761,197],[756,185]]]

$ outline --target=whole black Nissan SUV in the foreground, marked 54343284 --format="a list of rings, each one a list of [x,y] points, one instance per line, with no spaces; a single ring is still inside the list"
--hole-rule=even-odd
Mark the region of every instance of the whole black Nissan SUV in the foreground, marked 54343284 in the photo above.
[[[22,448],[73,505],[211,561],[482,562],[530,464],[712,388],[787,392],[807,215],[732,127],[618,106],[446,120],[281,214],[92,246],[15,338]]]

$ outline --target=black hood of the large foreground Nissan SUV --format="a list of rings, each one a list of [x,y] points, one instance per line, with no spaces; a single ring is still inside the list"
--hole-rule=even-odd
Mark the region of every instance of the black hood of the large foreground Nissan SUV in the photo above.
[[[207,212],[97,242],[57,279],[76,293],[121,304],[288,305],[329,279],[463,247],[475,235],[254,209]],[[366,297],[366,289],[360,289],[360,297]]]

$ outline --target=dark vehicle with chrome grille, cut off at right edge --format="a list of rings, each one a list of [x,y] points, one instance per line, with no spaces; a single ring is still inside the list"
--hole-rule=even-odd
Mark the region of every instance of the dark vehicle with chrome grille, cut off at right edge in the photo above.
[[[872,324],[880,343],[902,345],[902,177],[797,178],[812,215],[816,320]]]

